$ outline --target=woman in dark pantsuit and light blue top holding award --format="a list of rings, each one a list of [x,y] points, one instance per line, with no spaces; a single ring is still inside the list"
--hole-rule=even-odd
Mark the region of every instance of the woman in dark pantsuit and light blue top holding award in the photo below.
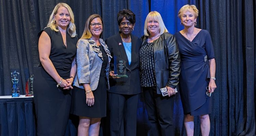
[[[109,109],[111,136],[135,136],[136,115],[141,93],[139,73],[139,49],[141,40],[131,35],[135,26],[135,14],[130,10],[117,14],[119,34],[106,39],[112,57],[115,55],[126,61],[127,78],[117,78],[110,72]],[[112,59],[113,69],[113,59]],[[125,124],[124,124],[125,123]],[[124,128],[123,128],[124,127]]]

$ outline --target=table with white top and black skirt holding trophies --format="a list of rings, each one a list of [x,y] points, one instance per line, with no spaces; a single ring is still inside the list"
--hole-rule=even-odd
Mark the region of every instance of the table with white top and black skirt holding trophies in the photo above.
[[[0,136],[35,136],[33,97],[0,96]]]

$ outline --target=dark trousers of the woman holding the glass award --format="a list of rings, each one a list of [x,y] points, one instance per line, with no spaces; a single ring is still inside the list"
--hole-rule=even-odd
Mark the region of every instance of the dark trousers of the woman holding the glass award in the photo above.
[[[140,94],[109,92],[111,136],[136,136],[137,107]]]

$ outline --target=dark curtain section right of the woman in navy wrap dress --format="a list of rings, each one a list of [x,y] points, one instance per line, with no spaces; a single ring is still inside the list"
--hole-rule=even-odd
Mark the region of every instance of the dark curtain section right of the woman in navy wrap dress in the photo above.
[[[255,0],[199,0],[216,56],[211,134],[255,135]]]

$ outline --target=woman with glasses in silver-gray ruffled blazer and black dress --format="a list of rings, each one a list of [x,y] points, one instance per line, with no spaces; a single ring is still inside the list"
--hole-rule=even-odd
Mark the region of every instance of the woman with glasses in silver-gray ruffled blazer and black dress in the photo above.
[[[79,116],[78,135],[99,135],[100,120],[106,116],[106,92],[109,89],[110,51],[101,39],[103,21],[91,15],[77,42],[73,114]]]

